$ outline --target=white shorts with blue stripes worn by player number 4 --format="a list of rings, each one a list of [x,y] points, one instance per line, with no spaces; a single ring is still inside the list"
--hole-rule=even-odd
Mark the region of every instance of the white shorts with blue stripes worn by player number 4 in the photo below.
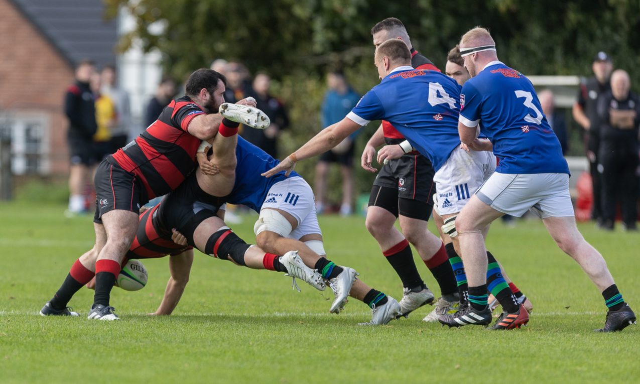
[[[471,196],[495,171],[495,156],[492,152],[476,152],[457,147],[449,159],[433,176],[436,183],[436,198],[433,205],[443,216],[462,211]]]

